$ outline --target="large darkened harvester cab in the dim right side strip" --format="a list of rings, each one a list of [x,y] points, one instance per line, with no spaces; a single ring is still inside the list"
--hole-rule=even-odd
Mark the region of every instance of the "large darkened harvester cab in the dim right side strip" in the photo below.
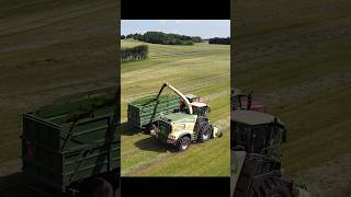
[[[231,149],[265,154],[280,161],[280,147],[286,141],[284,124],[261,112],[237,109],[231,113]]]

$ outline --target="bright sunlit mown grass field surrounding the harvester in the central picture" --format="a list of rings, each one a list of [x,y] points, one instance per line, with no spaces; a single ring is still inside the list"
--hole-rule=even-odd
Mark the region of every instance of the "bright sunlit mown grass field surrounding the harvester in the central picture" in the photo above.
[[[140,44],[122,40],[122,47]],[[147,60],[121,67],[122,175],[229,176],[229,46],[147,45]],[[193,144],[184,152],[172,152],[155,137],[128,127],[127,103],[156,95],[163,82],[183,93],[205,97],[212,109],[210,119],[225,132],[224,137]]]

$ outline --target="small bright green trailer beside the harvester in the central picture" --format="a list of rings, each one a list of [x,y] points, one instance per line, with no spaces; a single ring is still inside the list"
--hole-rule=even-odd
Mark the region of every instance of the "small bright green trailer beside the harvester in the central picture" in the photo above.
[[[161,116],[179,112],[180,99],[176,95],[143,97],[128,104],[128,124],[140,129],[154,129]]]

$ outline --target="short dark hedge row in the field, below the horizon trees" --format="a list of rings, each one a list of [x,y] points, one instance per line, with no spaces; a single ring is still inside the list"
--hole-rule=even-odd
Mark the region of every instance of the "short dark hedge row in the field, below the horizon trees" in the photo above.
[[[139,45],[132,48],[121,48],[122,62],[144,60],[148,57],[148,46]]]

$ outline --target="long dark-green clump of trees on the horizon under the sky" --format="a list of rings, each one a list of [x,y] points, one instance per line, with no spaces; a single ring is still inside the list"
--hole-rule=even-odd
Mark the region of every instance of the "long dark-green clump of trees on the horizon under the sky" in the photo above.
[[[186,36],[179,34],[167,34],[163,32],[147,32],[145,34],[122,35],[121,39],[134,38],[140,42],[161,44],[161,45],[193,45],[201,43],[203,39],[200,36]]]

